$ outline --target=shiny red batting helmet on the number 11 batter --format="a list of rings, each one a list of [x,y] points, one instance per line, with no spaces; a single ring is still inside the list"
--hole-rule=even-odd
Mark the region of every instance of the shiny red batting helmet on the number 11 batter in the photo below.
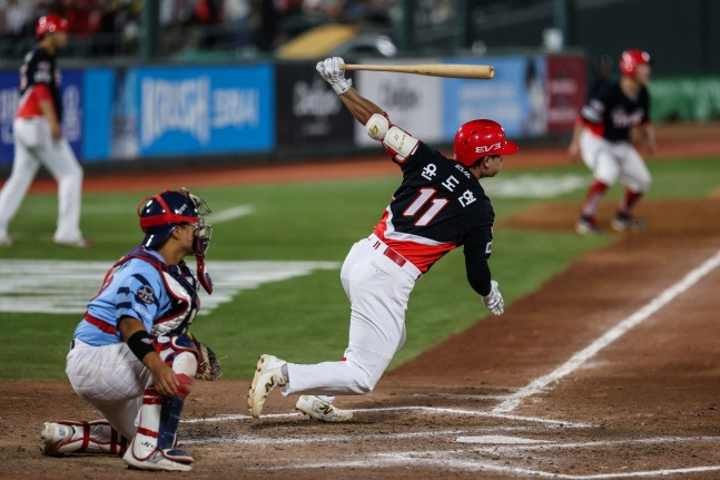
[[[505,138],[505,130],[493,120],[472,120],[455,134],[453,147],[455,160],[470,167],[486,155],[510,155],[517,151],[517,144]]]

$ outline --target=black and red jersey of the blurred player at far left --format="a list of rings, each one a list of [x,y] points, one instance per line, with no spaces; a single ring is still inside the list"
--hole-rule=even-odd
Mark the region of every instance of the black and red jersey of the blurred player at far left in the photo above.
[[[56,57],[43,48],[34,47],[24,56],[20,67],[20,102],[17,117],[42,115],[39,104],[47,99],[52,101],[58,121],[61,121],[60,72],[56,67]]]

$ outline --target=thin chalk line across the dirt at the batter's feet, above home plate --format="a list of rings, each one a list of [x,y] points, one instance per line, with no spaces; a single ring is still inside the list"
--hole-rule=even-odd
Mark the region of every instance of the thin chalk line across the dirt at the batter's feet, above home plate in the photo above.
[[[493,419],[506,419],[506,420],[514,420],[519,422],[542,423],[545,425],[563,427],[563,428],[585,429],[585,428],[593,427],[590,423],[544,419],[540,417],[523,417],[523,415],[513,415],[507,413],[493,413],[493,412],[484,412],[484,411],[477,411],[477,410],[447,409],[447,408],[437,408],[437,406],[388,406],[388,408],[379,408],[379,409],[355,409],[349,411],[354,413],[420,411],[420,412],[425,412],[430,414],[487,417]],[[299,417],[299,415],[300,413],[274,413],[274,414],[263,415],[263,418],[264,419],[265,418],[292,419],[294,417]],[[253,420],[253,417],[243,414],[243,413],[236,413],[236,414],[228,414],[228,415],[208,417],[203,419],[186,419],[186,420],[180,420],[180,422],[181,423],[211,423],[211,422],[226,422],[226,421],[234,421],[234,420]]]

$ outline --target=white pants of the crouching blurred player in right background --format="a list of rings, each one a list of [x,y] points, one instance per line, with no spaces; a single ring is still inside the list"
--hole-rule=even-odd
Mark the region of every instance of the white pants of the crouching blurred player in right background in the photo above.
[[[610,143],[583,129],[580,135],[580,151],[594,178],[603,184],[613,185],[620,179],[637,193],[643,193],[650,187],[650,172],[632,144]]]

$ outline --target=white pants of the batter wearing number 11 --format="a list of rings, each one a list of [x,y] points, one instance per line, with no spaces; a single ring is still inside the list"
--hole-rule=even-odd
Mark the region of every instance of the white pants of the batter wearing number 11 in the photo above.
[[[421,276],[412,263],[401,266],[391,259],[393,255],[388,257],[386,248],[371,235],[353,245],[343,264],[341,280],[352,307],[345,360],[314,365],[288,363],[284,395],[364,394],[375,388],[405,343],[405,310]]]

